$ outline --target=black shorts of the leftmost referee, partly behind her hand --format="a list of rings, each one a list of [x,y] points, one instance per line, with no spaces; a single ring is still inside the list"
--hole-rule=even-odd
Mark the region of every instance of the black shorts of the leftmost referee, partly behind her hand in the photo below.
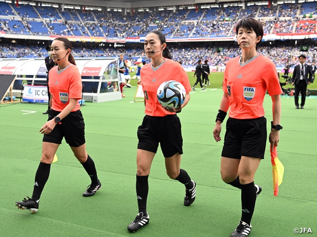
[[[49,120],[53,119],[60,112],[50,110]],[[80,147],[85,144],[85,122],[80,110],[70,112],[61,123],[57,123],[49,134],[44,134],[43,142],[61,144],[63,137],[71,147]]]

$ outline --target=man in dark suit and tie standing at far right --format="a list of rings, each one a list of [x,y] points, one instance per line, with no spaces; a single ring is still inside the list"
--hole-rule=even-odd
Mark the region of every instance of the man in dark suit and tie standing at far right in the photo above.
[[[306,56],[301,55],[299,56],[299,62],[300,64],[295,66],[293,77],[292,77],[292,85],[295,84],[295,106],[296,109],[299,109],[299,103],[298,103],[298,96],[299,92],[302,94],[302,101],[301,101],[301,109],[304,109],[305,100],[306,100],[306,90],[307,85],[309,85],[312,81],[312,68],[305,64]],[[309,75],[309,77],[308,77]]]

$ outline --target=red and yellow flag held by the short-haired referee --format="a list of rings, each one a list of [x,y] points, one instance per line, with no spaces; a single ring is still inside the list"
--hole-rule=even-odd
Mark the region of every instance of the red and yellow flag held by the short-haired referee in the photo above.
[[[274,196],[276,197],[278,195],[278,186],[280,186],[283,182],[284,166],[277,158],[277,150],[275,146],[273,151],[271,150],[271,162],[273,172],[273,191]]]

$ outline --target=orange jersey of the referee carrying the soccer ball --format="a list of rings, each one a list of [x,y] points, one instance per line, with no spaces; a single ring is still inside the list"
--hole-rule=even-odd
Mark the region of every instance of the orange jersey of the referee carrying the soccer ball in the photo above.
[[[156,69],[152,63],[146,64],[141,69],[141,84],[146,100],[145,114],[155,117],[174,115],[166,111],[158,101],[157,91],[161,83],[167,80],[176,80],[183,84],[186,93],[191,91],[188,75],[183,67],[170,59],[166,59]]]

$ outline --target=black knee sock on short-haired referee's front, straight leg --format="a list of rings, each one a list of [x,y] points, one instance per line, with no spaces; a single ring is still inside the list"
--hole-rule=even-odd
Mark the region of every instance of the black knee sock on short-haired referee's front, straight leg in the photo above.
[[[242,203],[241,221],[250,225],[257,199],[256,187],[254,186],[254,182],[240,185]]]

